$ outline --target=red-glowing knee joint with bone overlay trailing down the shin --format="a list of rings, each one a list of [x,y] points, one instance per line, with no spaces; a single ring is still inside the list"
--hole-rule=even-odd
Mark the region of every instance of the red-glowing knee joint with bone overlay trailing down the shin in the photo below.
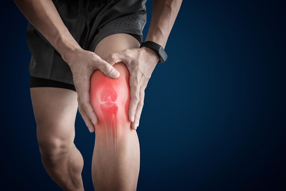
[[[90,102],[98,117],[95,130],[110,153],[118,152],[120,137],[131,128],[129,71],[123,63],[115,64],[115,68],[120,72],[116,79],[108,78],[100,70],[95,70],[90,79]]]

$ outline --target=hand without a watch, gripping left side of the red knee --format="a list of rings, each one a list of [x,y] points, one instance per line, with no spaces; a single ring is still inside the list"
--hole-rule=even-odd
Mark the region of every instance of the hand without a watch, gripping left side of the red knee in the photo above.
[[[90,103],[90,77],[96,69],[102,71],[109,78],[118,78],[120,74],[94,52],[82,48],[74,51],[74,54],[66,59],[66,62],[72,70],[74,86],[78,94],[78,111],[89,131],[93,132],[98,118]]]

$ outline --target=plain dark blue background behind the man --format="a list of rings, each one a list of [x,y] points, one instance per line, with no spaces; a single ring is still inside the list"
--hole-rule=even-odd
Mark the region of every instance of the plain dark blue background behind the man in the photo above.
[[[138,191],[285,190],[285,18],[282,1],[183,1],[146,89]],[[13,1],[1,26],[1,190],[60,190],[41,163],[27,20]],[[79,113],[75,143],[93,190],[94,134]]]

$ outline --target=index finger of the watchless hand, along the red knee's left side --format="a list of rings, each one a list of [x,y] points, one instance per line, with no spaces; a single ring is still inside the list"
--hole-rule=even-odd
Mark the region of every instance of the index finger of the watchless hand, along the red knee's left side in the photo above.
[[[90,118],[92,123],[95,125],[98,122],[98,118],[96,116],[96,113],[94,112],[94,108],[90,103],[90,80],[82,81],[79,90],[80,105],[82,109],[84,109],[85,113]]]

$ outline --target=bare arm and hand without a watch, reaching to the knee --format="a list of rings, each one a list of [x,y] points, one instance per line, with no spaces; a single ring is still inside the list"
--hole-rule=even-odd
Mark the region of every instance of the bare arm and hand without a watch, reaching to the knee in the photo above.
[[[78,109],[89,130],[94,131],[94,124],[98,119],[90,104],[90,76],[96,69],[110,78],[117,78],[119,72],[94,52],[80,47],[64,25],[51,0],[14,0],[14,2],[71,68],[78,94]]]

